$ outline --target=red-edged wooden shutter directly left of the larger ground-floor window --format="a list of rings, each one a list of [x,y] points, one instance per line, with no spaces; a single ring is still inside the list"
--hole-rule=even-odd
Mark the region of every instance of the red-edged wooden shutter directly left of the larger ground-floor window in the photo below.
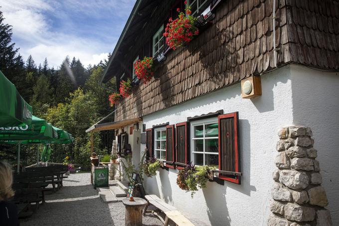
[[[188,128],[187,122],[181,122],[175,124],[176,127],[176,162],[187,164],[189,162],[189,151],[188,151]],[[182,167],[177,166],[177,169]]]

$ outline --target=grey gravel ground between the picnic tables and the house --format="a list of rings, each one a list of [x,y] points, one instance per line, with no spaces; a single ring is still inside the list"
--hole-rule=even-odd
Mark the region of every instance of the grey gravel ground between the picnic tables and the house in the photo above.
[[[124,226],[125,206],[122,202],[103,203],[90,184],[90,173],[71,174],[63,180],[63,188],[46,194],[46,203],[21,226]],[[143,225],[161,226],[153,214],[143,218]]]

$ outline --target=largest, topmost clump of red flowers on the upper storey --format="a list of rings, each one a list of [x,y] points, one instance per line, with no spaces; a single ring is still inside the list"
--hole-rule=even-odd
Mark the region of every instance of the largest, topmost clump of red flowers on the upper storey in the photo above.
[[[185,4],[187,2],[185,1]],[[186,7],[185,13],[180,12],[180,9],[177,8],[176,11],[179,12],[179,15],[176,19],[169,18],[169,23],[165,28],[164,36],[166,37],[166,43],[171,49],[176,49],[180,46],[187,45],[195,35],[199,34],[199,30],[194,26],[197,18],[192,16],[190,7]]]

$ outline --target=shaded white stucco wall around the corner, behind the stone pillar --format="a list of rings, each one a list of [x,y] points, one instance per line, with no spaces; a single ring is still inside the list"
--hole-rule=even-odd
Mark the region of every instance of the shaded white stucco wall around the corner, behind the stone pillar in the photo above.
[[[293,123],[310,126],[333,225],[339,225],[339,73],[291,66]]]

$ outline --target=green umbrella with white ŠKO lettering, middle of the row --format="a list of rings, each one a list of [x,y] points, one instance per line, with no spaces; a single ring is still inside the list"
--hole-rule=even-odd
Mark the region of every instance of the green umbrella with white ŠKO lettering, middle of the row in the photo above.
[[[31,125],[0,125],[0,140],[47,140],[58,137],[57,131],[45,120],[32,116]]]

